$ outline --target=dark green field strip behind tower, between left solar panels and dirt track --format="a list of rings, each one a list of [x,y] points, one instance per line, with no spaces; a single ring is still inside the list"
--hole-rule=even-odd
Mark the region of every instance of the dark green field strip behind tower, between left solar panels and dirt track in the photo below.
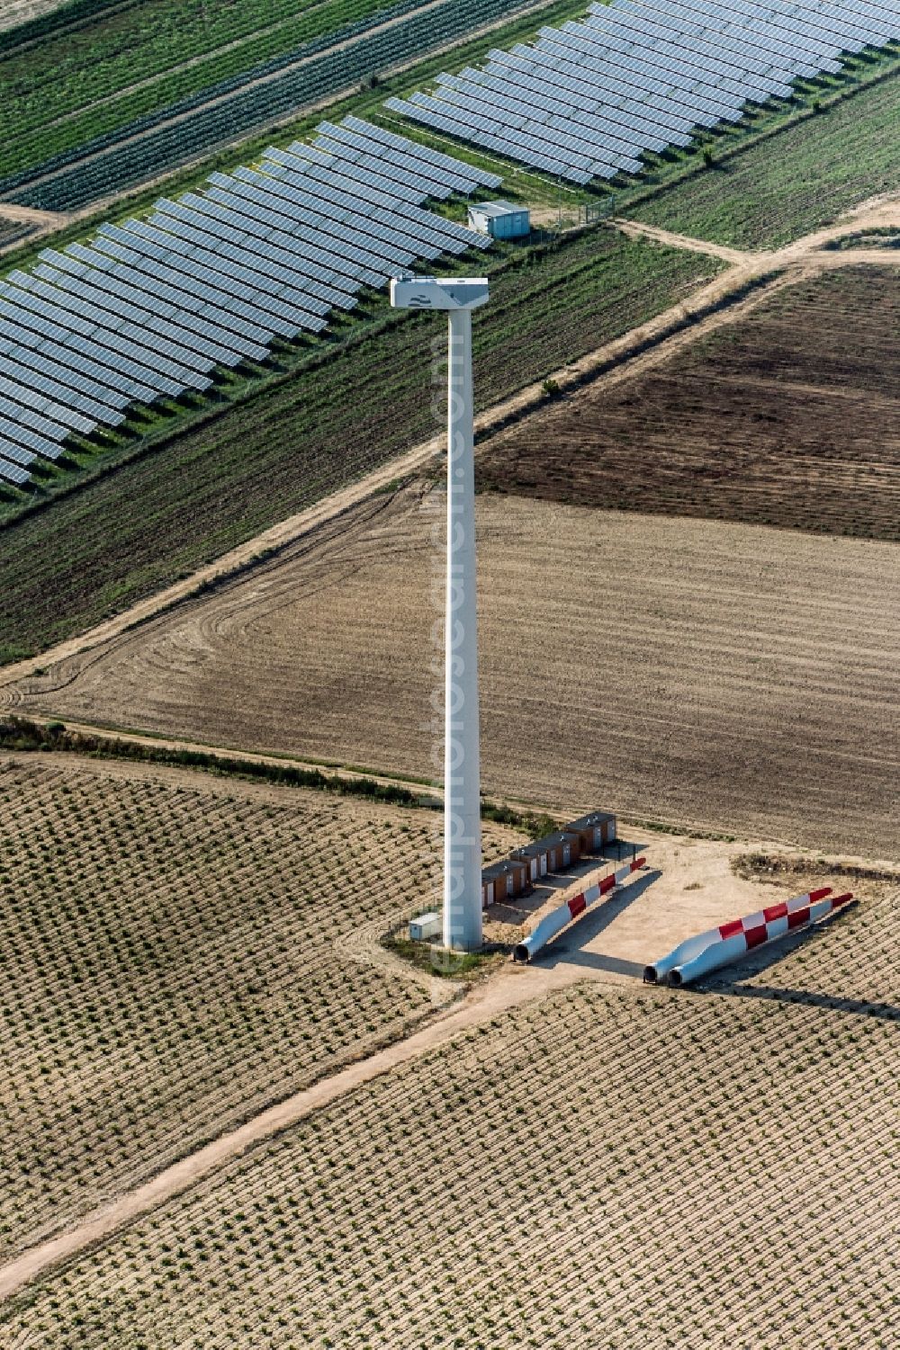
[[[643,323],[716,266],[600,231],[519,255],[477,325],[478,405]],[[0,662],[91,626],[428,439],[435,340],[439,327],[411,316],[7,526]]]

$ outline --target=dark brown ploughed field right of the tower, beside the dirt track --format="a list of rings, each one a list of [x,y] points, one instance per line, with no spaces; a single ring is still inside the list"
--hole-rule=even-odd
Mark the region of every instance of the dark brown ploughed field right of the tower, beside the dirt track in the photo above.
[[[777,292],[611,390],[481,451],[482,487],[618,510],[900,539],[900,270]]]

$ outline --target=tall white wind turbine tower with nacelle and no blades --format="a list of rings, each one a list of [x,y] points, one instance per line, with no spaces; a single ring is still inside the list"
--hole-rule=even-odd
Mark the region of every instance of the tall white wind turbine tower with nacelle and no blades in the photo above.
[[[486,301],[485,277],[399,277],[391,282],[391,304],[397,309],[446,309],[450,319],[443,945],[458,952],[481,946],[472,310]]]

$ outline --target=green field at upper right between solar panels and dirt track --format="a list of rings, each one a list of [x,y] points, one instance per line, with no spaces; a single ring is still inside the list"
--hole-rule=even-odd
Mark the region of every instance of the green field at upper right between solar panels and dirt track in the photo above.
[[[708,173],[654,193],[630,213],[678,234],[741,248],[774,247],[842,211],[900,188],[896,154],[900,62],[881,84],[849,96]]]

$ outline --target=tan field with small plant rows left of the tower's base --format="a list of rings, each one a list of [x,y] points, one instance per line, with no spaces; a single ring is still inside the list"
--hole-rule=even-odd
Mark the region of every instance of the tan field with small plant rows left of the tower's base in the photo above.
[[[4,755],[0,818],[0,1260],[432,1008],[430,811]]]

